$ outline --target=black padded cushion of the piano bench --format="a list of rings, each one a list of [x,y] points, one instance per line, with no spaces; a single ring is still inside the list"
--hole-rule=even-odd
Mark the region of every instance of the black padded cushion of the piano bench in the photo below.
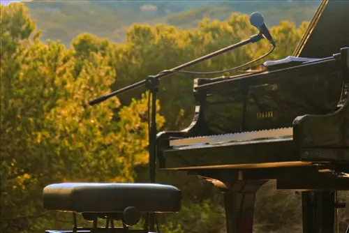
[[[43,206],[77,213],[119,213],[128,206],[141,212],[177,212],[181,191],[156,183],[56,183],[43,189]]]

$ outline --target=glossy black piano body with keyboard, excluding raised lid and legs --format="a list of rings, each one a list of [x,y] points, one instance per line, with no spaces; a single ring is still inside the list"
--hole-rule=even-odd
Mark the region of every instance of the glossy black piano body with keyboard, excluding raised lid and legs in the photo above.
[[[281,70],[195,80],[194,120],[181,132],[161,133],[159,166],[348,163],[348,51]]]

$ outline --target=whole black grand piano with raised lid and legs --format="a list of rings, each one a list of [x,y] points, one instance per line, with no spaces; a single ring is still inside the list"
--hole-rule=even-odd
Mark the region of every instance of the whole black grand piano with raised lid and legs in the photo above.
[[[188,128],[158,133],[157,167],[222,190],[227,232],[253,232],[256,191],[302,192],[304,233],[334,232],[349,190],[349,1],[324,0],[291,57],[194,80]]]

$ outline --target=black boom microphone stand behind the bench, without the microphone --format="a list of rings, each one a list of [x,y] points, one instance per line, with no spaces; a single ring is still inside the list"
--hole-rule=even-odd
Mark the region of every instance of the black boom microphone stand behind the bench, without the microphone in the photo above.
[[[161,79],[161,77],[165,77],[166,75],[170,75],[171,73],[174,73],[177,70],[181,70],[184,68],[187,68],[189,66],[193,66],[197,63],[200,63],[202,61],[205,61],[207,59],[211,59],[213,57],[216,57],[220,54],[223,54],[225,52],[228,52],[230,50],[234,50],[237,47],[241,47],[243,45],[246,45],[248,43],[255,43],[258,42],[258,40],[262,39],[262,33],[256,34],[254,36],[251,36],[247,40],[243,40],[239,43],[236,43],[234,45],[230,45],[228,47],[225,47],[221,50],[218,50],[216,52],[212,52],[211,54],[207,54],[203,57],[200,57],[199,59],[195,59],[193,61],[189,61],[188,63],[184,63],[181,66],[177,66],[175,68],[172,68],[171,70],[165,70],[161,73],[158,73],[157,75],[149,75],[145,80],[142,80],[140,82],[136,82],[134,84],[131,84],[127,87],[121,88],[117,91],[113,91],[105,96],[100,96],[94,100],[91,100],[89,102],[90,105],[96,105],[97,103],[101,103],[104,100],[107,100],[108,98],[111,98],[113,96],[117,96],[120,93],[124,93],[126,91],[130,91],[131,89],[135,89],[137,87],[140,87],[142,85],[145,85],[147,89],[149,90],[149,94],[151,94],[151,126],[150,126],[150,132],[149,132],[149,178],[151,183],[155,183],[155,166],[156,166],[156,93],[158,91],[158,82]],[[149,230],[150,232],[154,232],[154,213],[149,213]]]

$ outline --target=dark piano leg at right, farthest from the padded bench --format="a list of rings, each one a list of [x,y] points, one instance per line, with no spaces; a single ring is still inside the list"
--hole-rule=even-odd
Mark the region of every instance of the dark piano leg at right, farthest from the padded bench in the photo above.
[[[333,191],[302,192],[303,232],[334,232]]]

